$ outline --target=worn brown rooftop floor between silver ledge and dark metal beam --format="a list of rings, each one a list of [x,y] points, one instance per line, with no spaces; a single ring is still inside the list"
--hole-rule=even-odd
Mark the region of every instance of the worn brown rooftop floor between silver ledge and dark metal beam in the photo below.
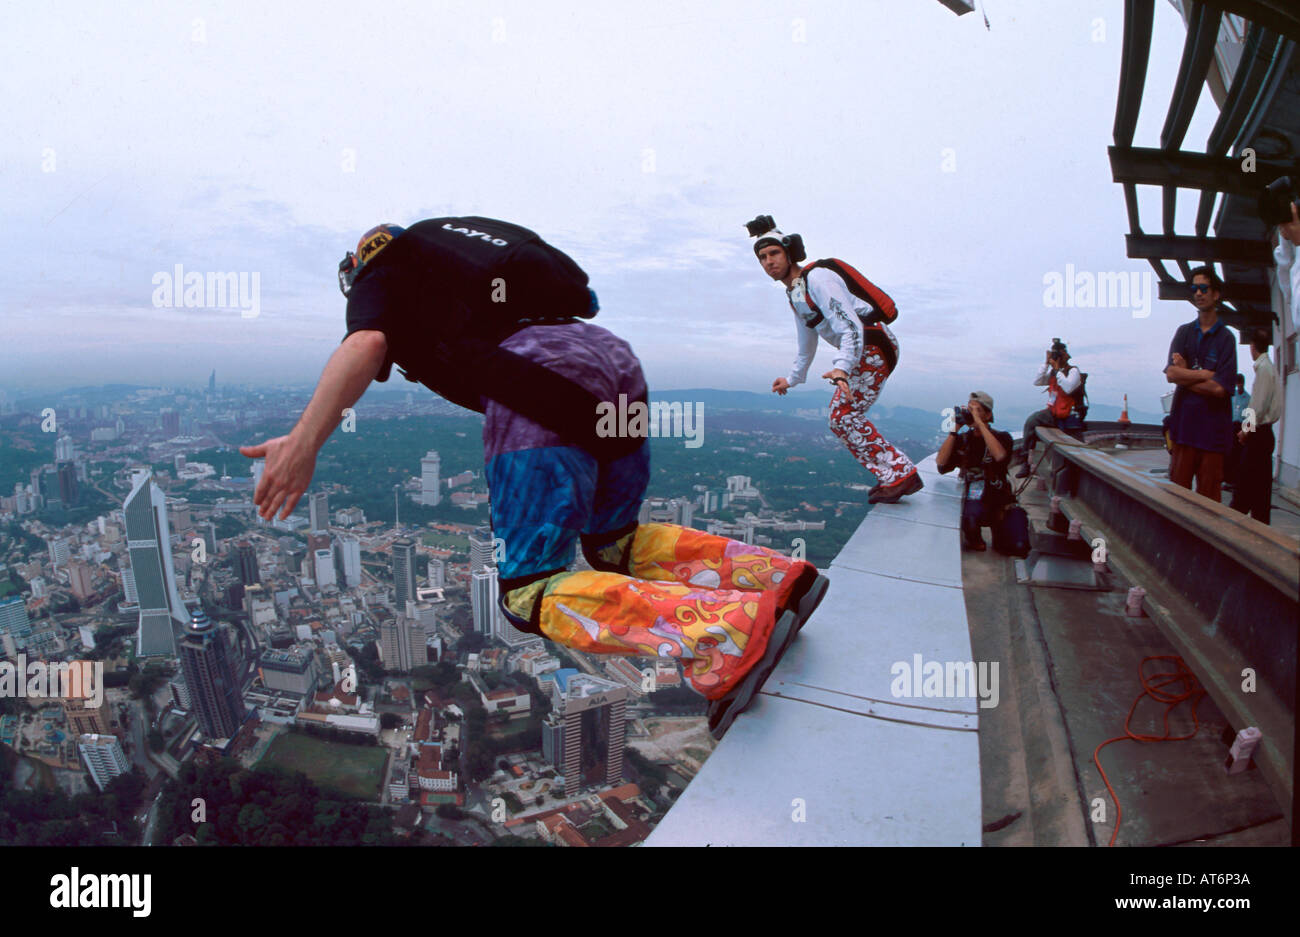
[[[1167,468],[1162,448],[1113,454]],[[1041,529],[1048,493],[1031,483],[1020,504]],[[1140,673],[1174,668],[1170,660],[1143,661],[1176,651],[1154,621],[1124,615],[1130,584],[1117,576],[1101,591],[1020,585],[1015,560],[992,550],[965,552],[962,574],[976,659],[1010,661],[1004,704],[980,720],[984,843],[1108,845],[1117,811],[1093,752],[1124,734],[1143,694]],[[1143,699],[1134,730],[1165,734],[1165,708]],[[1287,845],[1282,808],[1258,772],[1226,775],[1228,723],[1209,697],[1196,706],[1196,720],[1199,726],[1188,700],[1169,725],[1170,734],[1192,738],[1123,739],[1101,750],[1122,808],[1115,845]]]

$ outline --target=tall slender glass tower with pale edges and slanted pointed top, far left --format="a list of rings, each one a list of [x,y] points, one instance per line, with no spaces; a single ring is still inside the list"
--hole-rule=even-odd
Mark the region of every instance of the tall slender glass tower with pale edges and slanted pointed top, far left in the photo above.
[[[126,548],[140,606],[135,655],[176,656],[174,629],[187,625],[190,613],[176,587],[166,500],[148,469],[135,473],[122,513],[126,516]]]

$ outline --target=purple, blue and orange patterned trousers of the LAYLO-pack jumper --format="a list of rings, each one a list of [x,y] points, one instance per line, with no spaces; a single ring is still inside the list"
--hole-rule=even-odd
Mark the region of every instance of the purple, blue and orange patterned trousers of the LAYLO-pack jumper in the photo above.
[[[645,391],[632,348],[588,322],[532,326],[503,347],[601,400]],[[510,621],[578,651],[673,658],[698,693],[725,695],[762,659],[809,564],[689,528],[638,526],[649,444],[602,464],[495,402],[485,412],[491,524],[504,542],[499,573]],[[578,542],[599,571],[567,571]],[[520,613],[521,597],[530,615]]]

